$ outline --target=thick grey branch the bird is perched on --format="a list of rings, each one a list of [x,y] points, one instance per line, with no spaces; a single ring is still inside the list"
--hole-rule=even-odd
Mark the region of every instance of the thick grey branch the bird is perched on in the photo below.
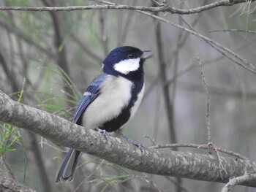
[[[97,131],[13,101],[2,91],[0,106],[0,120],[4,123],[11,123],[40,134],[58,145],[73,147],[138,172],[222,183],[227,183],[230,177],[241,176],[246,171],[256,172],[256,163],[253,161],[221,157],[220,161],[227,170],[227,174],[222,173],[222,179],[219,161],[214,155],[148,148],[141,155],[137,147],[122,142],[121,139],[109,137],[107,140]],[[252,181],[242,185],[256,187],[256,183]]]

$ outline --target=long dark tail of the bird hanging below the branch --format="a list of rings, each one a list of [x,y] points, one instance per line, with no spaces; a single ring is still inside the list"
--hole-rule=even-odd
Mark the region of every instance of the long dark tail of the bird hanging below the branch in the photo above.
[[[80,159],[80,155],[81,155],[80,151],[69,149],[56,174],[56,177],[55,177],[56,183],[65,182],[67,180],[69,181],[73,180],[73,177],[75,175],[75,169]]]

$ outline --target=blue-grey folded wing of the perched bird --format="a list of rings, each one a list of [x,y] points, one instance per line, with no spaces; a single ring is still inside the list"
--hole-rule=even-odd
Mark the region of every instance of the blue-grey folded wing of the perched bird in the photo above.
[[[107,77],[107,74],[99,74],[90,83],[89,87],[86,88],[86,92],[91,94],[86,94],[80,99],[78,107],[75,110],[75,116],[73,120],[74,123],[77,123],[78,125],[80,125],[81,115],[86,110],[86,108],[91,104],[91,102],[94,101],[94,99],[96,99],[97,96],[99,96],[100,87],[102,86],[102,82],[104,82],[106,77]]]

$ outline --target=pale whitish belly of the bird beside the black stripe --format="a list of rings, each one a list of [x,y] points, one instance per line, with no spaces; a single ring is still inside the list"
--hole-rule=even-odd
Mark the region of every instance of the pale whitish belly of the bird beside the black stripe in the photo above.
[[[100,95],[84,112],[82,125],[96,128],[117,117],[131,98],[131,87],[132,82],[124,77],[108,76],[100,89]]]

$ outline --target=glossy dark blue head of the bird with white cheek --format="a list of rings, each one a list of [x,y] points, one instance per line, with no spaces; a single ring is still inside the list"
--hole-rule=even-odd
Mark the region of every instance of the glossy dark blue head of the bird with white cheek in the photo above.
[[[103,61],[103,72],[115,76],[143,76],[143,63],[150,58],[150,50],[142,51],[136,47],[117,47]]]

